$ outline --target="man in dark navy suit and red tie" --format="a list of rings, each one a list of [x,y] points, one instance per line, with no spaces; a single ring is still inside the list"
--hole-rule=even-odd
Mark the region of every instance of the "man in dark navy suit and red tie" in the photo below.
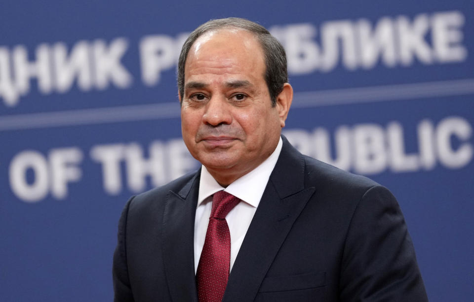
[[[284,50],[258,24],[190,35],[182,134],[202,167],[126,204],[115,301],[427,301],[392,194],[280,136],[287,82]]]

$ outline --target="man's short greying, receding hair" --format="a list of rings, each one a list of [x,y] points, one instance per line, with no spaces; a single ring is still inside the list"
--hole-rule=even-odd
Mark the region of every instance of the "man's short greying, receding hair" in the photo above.
[[[262,46],[265,57],[265,81],[267,82],[272,106],[276,104],[276,97],[283,90],[283,84],[288,82],[285,49],[270,32],[255,22],[243,18],[225,18],[210,20],[195,29],[183,44],[178,60],[178,89],[180,102],[184,95],[184,67],[189,50],[199,36],[209,31],[224,28],[235,28],[254,34]]]

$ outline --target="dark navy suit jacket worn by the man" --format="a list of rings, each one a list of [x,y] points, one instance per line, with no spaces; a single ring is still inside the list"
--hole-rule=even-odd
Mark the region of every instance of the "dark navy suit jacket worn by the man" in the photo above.
[[[199,174],[130,199],[118,226],[116,302],[197,302]],[[413,244],[384,187],[283,148],[223,301],[428,301]]]

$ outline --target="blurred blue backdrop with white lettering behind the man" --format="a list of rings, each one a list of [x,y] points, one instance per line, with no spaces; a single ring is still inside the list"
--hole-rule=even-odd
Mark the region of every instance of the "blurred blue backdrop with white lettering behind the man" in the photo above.
[[[285,46],[290,141],[390,188],[430,301],[472,301],[474,2],[188,2],[0,4],[0,301],[112,300],[125,201],[198,167],[183,39],[228,16]]]

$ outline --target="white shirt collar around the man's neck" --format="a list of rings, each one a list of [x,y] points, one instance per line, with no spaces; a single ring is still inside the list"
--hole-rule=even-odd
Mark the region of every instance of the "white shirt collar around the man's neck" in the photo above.
[[[247,174],[241,176],[227,188],[223,188],[212,175],[207,171],[206,167],[202,166],[201,176],[199,180],[199,195],[197,197],[197,205],[201,204],[207,197],[212,194],[224,190],[242,201],[257,207],[262,198],[263,191],[267,187],[270,174],[275,168],[276,161],[280,155],[283,141],[281,137],[276,145],[273,153],[257,168],[254,168]]]

